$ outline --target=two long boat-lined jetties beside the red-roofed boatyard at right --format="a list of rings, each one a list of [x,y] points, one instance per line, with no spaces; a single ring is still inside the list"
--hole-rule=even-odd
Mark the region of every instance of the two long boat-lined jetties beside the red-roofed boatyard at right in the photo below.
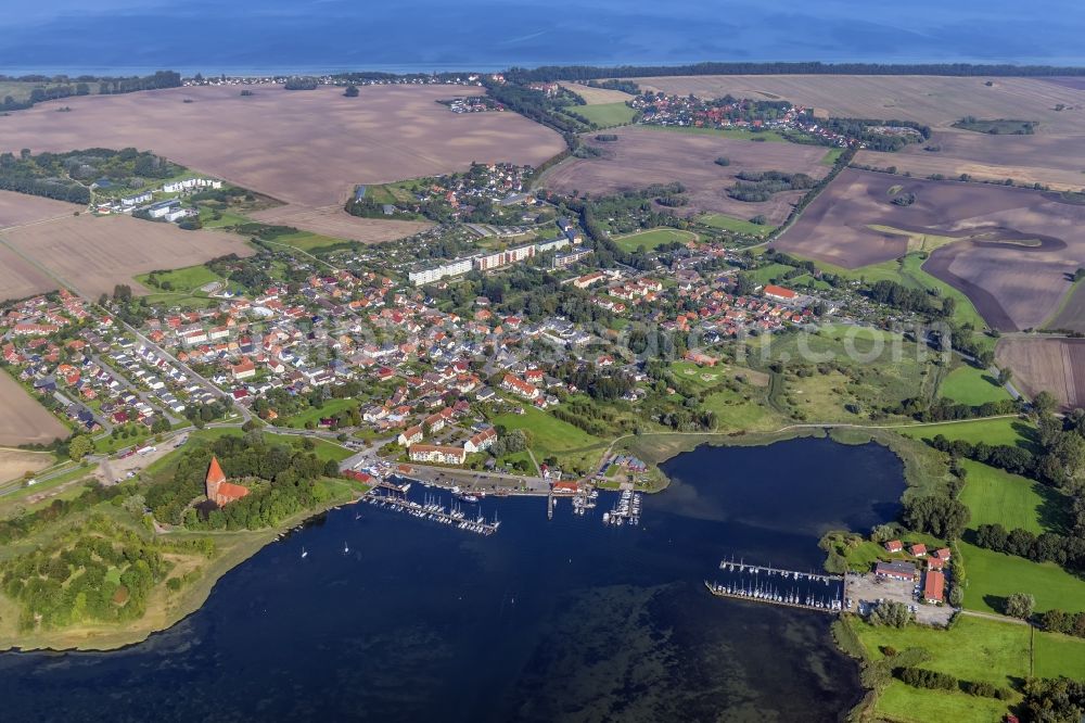
[[[704,586],[716,597],[829,613],[844,609],[846,583],[839,575],[781,570],[733,559],[722,561],[719,570],[726,573],[724,582],[704,581]]]

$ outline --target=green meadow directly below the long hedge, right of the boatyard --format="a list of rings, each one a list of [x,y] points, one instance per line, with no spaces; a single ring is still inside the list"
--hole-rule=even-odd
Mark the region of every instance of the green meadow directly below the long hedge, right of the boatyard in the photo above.
[[[1013,593],[1036,597],[1036,612],[1059,608],[1070,612],[1085,610],[1085,581],[1054,562],[1032,562],[960,543],[968,570],[969,585],[965,607],[986,612],[1001,612],[1003,601]]]

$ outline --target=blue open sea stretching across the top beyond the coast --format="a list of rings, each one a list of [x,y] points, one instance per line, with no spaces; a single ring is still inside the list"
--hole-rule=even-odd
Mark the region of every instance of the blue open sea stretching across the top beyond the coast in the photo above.
[[[1081,0],[4,0],[0,72],[1085,65]]]

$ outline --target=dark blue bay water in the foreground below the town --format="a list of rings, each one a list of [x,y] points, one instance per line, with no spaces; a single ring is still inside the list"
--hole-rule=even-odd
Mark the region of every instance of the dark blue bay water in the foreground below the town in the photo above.
[[[899,460],[803,439],[701,447],[665,469],[674,484],[644,499],[639,528],[601,523],[608,495],[584,517],[562,500],[552,521],[542,499],[485,500],[501,519],[489,537],[334,510],[145,644],[0,655],[0,716],[839,720],[861,690],[831,618],[717,599],[702,580],[731,555],[817,569],[825,530],[893,517]]]

